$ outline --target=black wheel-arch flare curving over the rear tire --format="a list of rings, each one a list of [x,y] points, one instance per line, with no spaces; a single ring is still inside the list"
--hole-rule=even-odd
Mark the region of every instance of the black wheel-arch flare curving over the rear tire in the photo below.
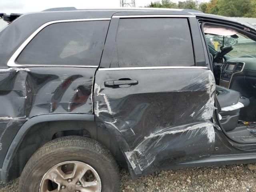
[[[42,114],[28,119],[19,129],[18,133],[12,140],[8,152],[4,158],[2,170],[0,170],[0,178],[3,182],[8,181],[8,170],[12,164],[12,160],[30,128],[38,123],[60,121],[60,120],[82,120],[94,121],[94,114],[84,113],[60,113],[60,114]]]

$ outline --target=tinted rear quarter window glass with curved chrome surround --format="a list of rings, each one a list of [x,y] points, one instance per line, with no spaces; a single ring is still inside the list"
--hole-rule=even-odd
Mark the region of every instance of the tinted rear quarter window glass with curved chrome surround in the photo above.
[[[24,48],[19,64],[98,66],[109,21],[63,22],[47,26]]]

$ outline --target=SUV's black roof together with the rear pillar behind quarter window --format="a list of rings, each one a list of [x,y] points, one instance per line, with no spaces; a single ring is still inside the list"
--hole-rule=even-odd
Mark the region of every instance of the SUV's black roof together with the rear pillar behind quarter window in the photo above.
[[[4,14],[0,14],[0,17]],[[12,15],[12,14],[11,14]],[[13,14],[18,16],[19,14]],[[33,32],[43,24],[55,20],[111,18],[113,15],[188,15],[199,18],[218,19],[239,23],[227,17],[204,14],[196,10],[165,9],[165,8],[115,8],[115,9],[84,9],[52,8],[42,12],[23,14],[11,22],[0,32],[0,66],[5,66],[10,56]],[[6,16],[6,15],[4,15]],[[240,23],[241,24],[241,23]],[[255,30],[253,26],[244,26]],[[17,35],[19,34],[19,35]]]

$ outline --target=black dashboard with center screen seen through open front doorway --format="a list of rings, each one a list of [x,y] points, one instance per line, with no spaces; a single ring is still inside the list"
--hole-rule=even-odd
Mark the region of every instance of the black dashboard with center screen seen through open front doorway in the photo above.
[[[249,105],[241,109],[239,118],[255,122],[256,58],[226,58],[227,61],[220,68],[219,85],[240,92],[242,98],[249,98]]]

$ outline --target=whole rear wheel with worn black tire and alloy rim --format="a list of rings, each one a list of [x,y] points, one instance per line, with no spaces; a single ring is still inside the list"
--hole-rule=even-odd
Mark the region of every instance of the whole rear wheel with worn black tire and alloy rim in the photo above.
[[[110,151],[96,140],[67,136],[52,140],[30,158],[20,192],[112,192],[120,186]]]

